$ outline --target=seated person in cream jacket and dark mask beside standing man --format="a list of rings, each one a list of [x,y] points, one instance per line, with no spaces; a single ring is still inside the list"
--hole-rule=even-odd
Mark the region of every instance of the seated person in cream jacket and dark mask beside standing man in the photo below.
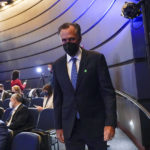
[[[43,109],[46,108],[53,108],[53,93],[50,84],[46,84],[43,87],[43,95],[44,95],[43,107],[35,106],[38,109],[38,111],[42,111]]]

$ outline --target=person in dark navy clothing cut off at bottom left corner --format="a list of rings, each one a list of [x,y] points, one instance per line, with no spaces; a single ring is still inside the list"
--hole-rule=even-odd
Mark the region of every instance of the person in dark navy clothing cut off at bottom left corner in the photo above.
[[[0,120],[0,150],[5,150],[8,138],[8,128],[6,124]]]

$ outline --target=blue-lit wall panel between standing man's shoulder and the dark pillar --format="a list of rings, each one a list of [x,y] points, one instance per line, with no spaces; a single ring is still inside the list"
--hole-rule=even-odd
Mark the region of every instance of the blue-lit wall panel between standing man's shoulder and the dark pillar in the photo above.
[[[105,54],[108,65],[118,64],[134,58],[130,24],[114,39],[110,40],[96,51]]]

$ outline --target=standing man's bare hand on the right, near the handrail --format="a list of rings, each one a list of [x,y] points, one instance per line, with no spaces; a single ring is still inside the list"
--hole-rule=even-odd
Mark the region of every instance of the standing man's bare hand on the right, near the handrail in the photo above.
[[[104,127],[104,141],[109,141],[115,135],[115,129],[112,126]]]

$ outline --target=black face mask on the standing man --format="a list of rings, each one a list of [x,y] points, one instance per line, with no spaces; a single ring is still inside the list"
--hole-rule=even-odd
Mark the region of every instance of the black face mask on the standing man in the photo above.
[[[73,57],[76,55],[77,51],[79,50],[79,45],[76,43],[68,42],[66,44],[63,44],[63,48],[68,55]]]

